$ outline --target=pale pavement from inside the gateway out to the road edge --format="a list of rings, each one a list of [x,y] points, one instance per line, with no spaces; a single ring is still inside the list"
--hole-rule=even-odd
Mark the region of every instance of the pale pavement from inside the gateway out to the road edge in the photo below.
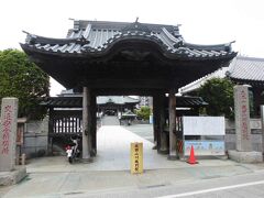
[[[29,176],[18,185],[0,187],[0,197],[100,197],[108,191],[141,191],[264,169],[263,164],[246,165],[218,158],[199,160],[197,165],[167,161],[165,155],[152,150],[153,143],[127,129],[101,127],[98,155],[91,164],[68,164],[65,156],[32,160],[26,166]],[[131,142],[143,142],[145,170],[142,175],[130,174]]]

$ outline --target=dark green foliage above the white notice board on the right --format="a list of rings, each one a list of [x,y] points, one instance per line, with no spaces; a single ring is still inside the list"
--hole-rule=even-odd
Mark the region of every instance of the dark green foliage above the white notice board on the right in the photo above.
[[[234,118],[233,86],[234,84],[226,78],[212,78],[201,86],[198,95],[209,103],[207,114]]]

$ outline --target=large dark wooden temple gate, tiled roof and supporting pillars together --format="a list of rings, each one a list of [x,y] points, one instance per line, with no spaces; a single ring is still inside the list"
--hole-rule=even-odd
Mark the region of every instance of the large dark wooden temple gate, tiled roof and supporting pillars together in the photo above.
[[[53,31],[53,30],[51,30]],[[26,33],[23,51],[67,89],[82,92],[82,160],[96,155],[96,97],[153,97],[157,151],[177,158],[178,88],[229,66],[237,53],[231,43],[186,42],[178,25],[75,20],[66,38]],[[168,94],[169,147],[164,134]]]

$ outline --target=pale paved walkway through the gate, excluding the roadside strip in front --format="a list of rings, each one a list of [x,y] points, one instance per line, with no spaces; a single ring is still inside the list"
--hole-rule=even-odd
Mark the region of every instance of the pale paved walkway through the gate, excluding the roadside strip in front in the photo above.
[[[143,167],[144,169],[167,169],[186,167],[185,162],[168,161],[167,155],[157,154],[152,150],[154,144],[129,130],[119,125],[101,127],[97,134],[97,156],[87,166],[76,163],[68,165],[66,157],[50,157],[33,160],[28,166],[29,172],[61,172],[63,170],[129,170],[130,169],[130,144],[132,142],[143,143]],[[47,162],[45,162],[47,161]],[[51,162],[50,162],[51,161]],[[196,166],[233,165],[231,161],[204,160]]]

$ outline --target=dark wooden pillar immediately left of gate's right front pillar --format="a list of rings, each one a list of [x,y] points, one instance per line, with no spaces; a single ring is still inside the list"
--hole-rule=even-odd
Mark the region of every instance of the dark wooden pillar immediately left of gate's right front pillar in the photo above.
[[[165,132],[165,94],[161,94],[160,96],[160,147],[158,153],[161,154],[168,154],[168,143],[167,143],[167,133]]]

